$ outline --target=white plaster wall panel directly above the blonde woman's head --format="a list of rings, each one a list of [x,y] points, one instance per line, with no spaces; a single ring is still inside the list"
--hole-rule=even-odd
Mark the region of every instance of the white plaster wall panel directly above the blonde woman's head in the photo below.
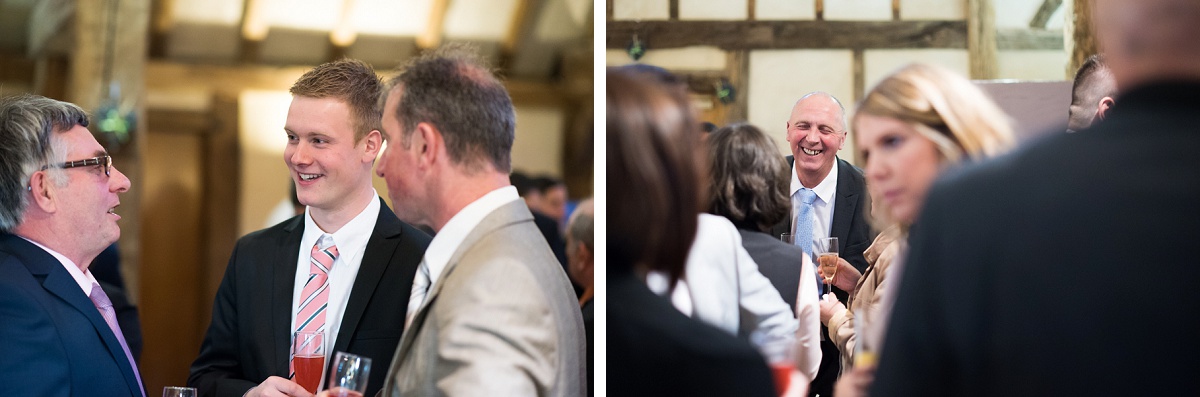
[[[912,62],[934,64],[970,76],[965,49],[870,49],[863,52],[863,89],[870,91],[888,74]],[[862,94],[866,94],[865,91]]]

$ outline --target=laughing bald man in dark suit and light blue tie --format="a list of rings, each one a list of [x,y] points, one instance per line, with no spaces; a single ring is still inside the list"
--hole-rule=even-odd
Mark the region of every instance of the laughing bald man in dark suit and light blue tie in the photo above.
[[[797,222],[804,218],[805,223],[811,222],[806,228],[811,230],[811,239],[838,237],[839,255],[858,271],[865,271],[868,264],[863,251],[875,239],[866,219],[870,197],[862,170],[838,158],[846,133],[846,109],[829,94],[806,94],[792,107],[787,119],[787,143],[792,149],[792,156],[787,157],[792,166],[792,216],[772,228],[772,235],[803,235],[805,227]],[[809,205],[803,203],[805,194]],[[811,253],[811,247],[802,248]],[[839,300],[846,301],[847,291],[832,290]],[[822,327],[821,332],[828,331]],[[821,342],[821,369],[809,395],[830,396],[841,368],[840,355],[828,337]]]

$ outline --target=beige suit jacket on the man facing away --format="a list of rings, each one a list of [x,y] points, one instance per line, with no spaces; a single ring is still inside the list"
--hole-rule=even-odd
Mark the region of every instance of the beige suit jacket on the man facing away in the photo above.
[[[517,200],[455,249],[382,374],[380,395],[583,396],[584,349],[570,282]]]

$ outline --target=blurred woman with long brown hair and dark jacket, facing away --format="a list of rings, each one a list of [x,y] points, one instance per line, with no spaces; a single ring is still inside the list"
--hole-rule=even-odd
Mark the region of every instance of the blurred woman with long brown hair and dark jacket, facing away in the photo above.
[[[607,374],[612,396],[774,396],[748,342],[684,315],[646,275],[684,275],[701,211],[703,150],[686,98],[607,71]]]

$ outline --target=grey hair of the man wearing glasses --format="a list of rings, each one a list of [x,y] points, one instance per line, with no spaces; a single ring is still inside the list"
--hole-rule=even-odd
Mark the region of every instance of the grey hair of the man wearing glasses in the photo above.
[[[0,100],[0,230],[20,224],[30,178],[68,151],[53,134],[74,126],[88,126],[88,113],[76,104],[36,95]],[[52,170],[50,179],[59,186],[66,182],[60,172]]]

